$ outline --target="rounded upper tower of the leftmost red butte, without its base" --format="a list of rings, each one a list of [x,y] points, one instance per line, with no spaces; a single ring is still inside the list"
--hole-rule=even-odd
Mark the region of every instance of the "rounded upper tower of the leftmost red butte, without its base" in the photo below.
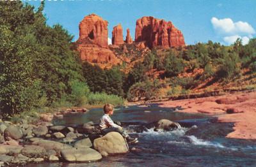
[[[79,40],[88,38],[100,47],[108,48],[108,22],[101,17],[91,14],[79,24]]]

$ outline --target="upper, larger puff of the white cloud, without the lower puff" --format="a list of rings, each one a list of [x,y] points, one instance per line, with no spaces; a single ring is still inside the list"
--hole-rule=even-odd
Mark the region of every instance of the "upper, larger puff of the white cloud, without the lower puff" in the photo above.
[[[217,33],[221,34],[254,34],[255,30],[248,22],[233,22],[231,18],[218,19],[212,17],[211,23]]]

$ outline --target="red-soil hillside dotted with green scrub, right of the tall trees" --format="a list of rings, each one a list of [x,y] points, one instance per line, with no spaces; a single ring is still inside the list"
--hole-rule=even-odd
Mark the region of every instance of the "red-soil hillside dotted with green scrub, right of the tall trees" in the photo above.
[[[255,89],[255,47],[256,39],[247,45],[238,39],[231,46],[209,41],[154,48],[145,55],[130,50],[131,54],[124,54],[120,49],[118,55],[125,55],[130,62],[110,70],[85,62],[83,72],[92,90],[118,94],[129,101]]]

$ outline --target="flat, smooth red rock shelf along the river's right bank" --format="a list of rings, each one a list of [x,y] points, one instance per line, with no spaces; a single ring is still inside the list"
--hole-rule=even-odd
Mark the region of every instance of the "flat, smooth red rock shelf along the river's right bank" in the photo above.
[[[218,122],[234,122],[234,131],[227,138],[256,140],[256,92],[241,92],[208,98],[163,101],[161,107],[181,106],[177,112],[204,113]]]

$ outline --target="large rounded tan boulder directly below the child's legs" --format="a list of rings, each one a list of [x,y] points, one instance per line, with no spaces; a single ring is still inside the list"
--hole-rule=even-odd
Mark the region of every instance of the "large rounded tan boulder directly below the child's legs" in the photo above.
[[[93,141],[93,147],[99,152],[107,152],[108,154],[127,153],[129,147],[123,136],[117,132],[110,132],[101,138]]]

